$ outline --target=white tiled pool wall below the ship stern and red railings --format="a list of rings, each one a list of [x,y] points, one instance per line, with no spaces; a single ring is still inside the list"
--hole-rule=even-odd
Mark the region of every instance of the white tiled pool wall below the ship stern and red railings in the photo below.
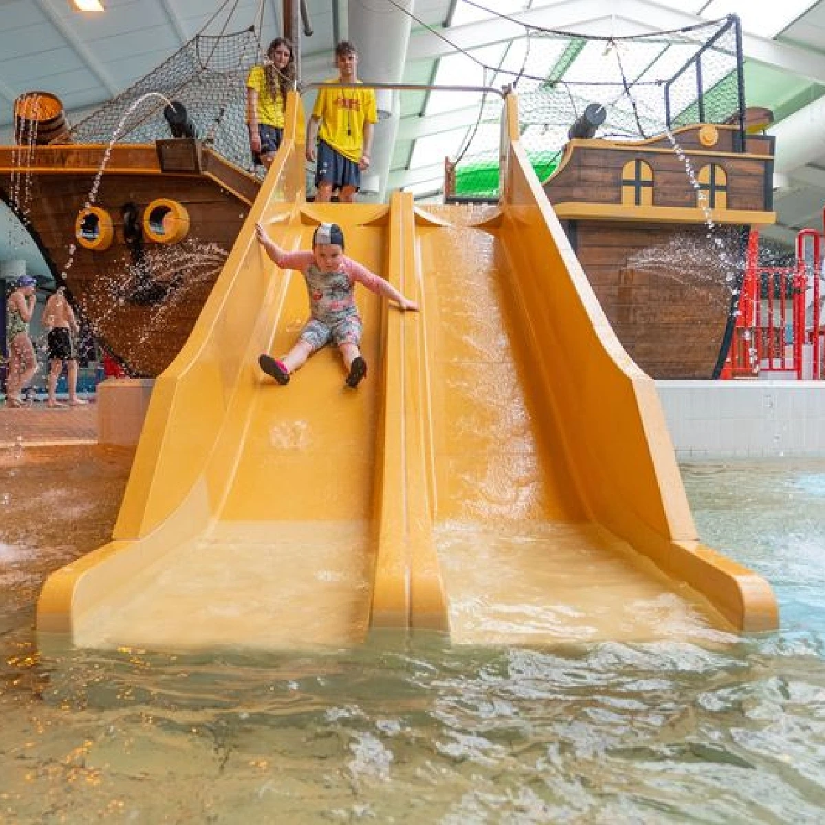
[[[679,460],[825,456],[825,381],[657,381]]]

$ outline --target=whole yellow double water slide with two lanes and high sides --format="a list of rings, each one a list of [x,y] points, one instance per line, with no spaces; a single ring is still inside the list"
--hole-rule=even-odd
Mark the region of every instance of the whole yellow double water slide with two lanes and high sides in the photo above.
[[[165,650],[719,639],[775,628],[770,587],[697,540],[653,381],[544,198],[507,99],[502,200],[304,203],[300,101],[190,340],[154,387],[110,544],[54,573],[41,639]],[[257,356],[306,317],[282,247],[342,225],[363,290],[356,391],[328,348],[286,387]]]

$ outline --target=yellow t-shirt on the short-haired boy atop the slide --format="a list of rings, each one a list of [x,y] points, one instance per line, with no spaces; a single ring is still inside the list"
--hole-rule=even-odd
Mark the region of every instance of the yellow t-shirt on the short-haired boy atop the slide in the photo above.
[[[325,82],[337,83],[338,78]],[[357,82],[361,84],[360,80]],[[364,124],[378,120],[375,90],[320,88],[312,113],[321,120],[318,137],[345,158],[358,163],[364,146]]]

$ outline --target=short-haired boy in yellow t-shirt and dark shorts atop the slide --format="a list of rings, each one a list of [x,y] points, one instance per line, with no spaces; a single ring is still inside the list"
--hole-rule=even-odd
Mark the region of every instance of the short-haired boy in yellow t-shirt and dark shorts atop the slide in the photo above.
[[[356,76],[358,54],[347,40],[335,47],[338,78],[331,83],[352,83],[351,88],[321,88],[307,135],[307,159],[316,158],[315,186],[318,202],[328,202],[332,189],[340,189],[342,203],[351,203],[361,187],[361,172],[370,166],[373,125],[378,120],[375,91],[363,88]]]

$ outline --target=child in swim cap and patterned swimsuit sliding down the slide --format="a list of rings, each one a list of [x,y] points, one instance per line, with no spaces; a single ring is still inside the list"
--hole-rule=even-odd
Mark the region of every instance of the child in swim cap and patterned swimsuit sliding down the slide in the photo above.
[[[366,361],[361,356],[361,317],[356,307],[356,282],[370,292],[393,299],[399,309],[418,309],[417,304],[401,295],[384,278],[344,255],[344,233],[338,224],[321,224],[313,235],[312,252],[286,252],[273,243],[262,224],[255,227],[258,243],[281,269],[295,269],[304,274],[309,292],[312,317],[300,334],[295,347],[280,360],[263,355],[261,369],[278,384],[287,384],[290,375],[304,365],[315,351],[329,342],[341,351],[347,367],[347,387],[355,389],[366,375]]]

